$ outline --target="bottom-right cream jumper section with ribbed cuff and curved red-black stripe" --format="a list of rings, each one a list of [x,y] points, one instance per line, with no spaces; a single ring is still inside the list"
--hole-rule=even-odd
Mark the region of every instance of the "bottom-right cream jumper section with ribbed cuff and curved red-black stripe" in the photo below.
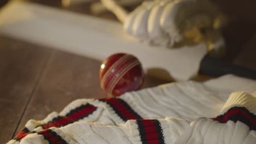
[[[256,143],[255,120],[256,97],[235,92],[226,101],[220,116],[191,122],[191,129],[176,143]]]

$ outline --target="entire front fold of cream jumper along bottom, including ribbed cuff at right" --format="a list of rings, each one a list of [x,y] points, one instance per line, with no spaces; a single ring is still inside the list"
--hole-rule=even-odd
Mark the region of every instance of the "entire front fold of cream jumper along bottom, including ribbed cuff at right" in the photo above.
[[[255,118],[255,101],[256,98],[250,94],[236,92],[230,95],[223,109],[243,106],[253,112]],[[234,109],[233,107],[230,109]],[[144,139],[150,143],[255,143],[255,122],[254,125],[241,122],[239,118],[243,117],[237,117],[236,122],[231,116],[230,120],[220,122],[220,117],[222,116],[213,119],[197,118],[190,125],[182,119],[170,117],[158,120],[129,120],[120,125],[76,122],[65,127],[30,134],[22,139],[21,143],[47,143],[53,134],[60,136],[62,143],[143,143]],[[160,125],[161,139],[158,136],[154,137],[154,122]],[[146,135],[144,139],[142,135]],[[152,137],[148,139],[147,136]]]

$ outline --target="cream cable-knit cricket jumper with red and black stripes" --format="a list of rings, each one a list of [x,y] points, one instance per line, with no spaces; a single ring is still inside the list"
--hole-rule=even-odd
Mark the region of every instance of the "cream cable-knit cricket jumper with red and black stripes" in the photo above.
[[[250,85],[243,90],[256,90],[255,81],[243,82]],[[213,83],[78,99],[42,121],[28,121],[8,143],[256,143],[256,95],[230,94],[234,89]]]

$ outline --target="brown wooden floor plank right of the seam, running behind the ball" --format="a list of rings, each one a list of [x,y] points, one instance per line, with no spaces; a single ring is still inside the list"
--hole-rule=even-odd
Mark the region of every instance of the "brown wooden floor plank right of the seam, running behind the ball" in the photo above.
[[[21,130],[29,119],[43,119],[50,112],[60,112],[79,98],[102,98],[98,70],[100,62],[65,52],[55,52],[21,120]],[[166,83],[146,76],[144,87]],[[18,131],[16,131],[18,133]]]

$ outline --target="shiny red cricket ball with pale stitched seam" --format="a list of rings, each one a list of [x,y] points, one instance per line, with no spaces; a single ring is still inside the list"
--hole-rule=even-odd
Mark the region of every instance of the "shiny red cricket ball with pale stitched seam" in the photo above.
[[[101,64],[99,76],[101,88],[108,95],[118,97],[125,92],[138,90],[144,74],[141,62],[135,56],[116,53]]]

